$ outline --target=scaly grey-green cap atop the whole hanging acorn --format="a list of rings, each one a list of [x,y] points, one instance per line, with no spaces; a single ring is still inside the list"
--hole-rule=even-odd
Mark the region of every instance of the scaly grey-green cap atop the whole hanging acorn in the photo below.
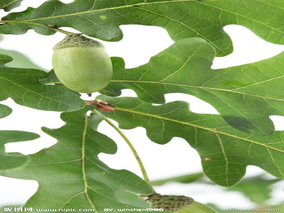
[[[93,39],[89,39],[86,36],[82,36],[81,34],[76,35],[67,35],[61,42],[56,44],[53,47],[53,51],[68,47],[98,47],[105,48],[105,46],[98,41]]]

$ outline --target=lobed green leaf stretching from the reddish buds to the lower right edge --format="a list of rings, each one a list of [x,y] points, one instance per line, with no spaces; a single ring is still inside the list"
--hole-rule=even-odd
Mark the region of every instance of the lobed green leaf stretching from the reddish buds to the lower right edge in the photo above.
[[[284,131],[254,136],[228,126],[220,115],[190,112],[183,101],[153,106],[131,97],[100,95],[97,99],[115,106],[114,112],[102,113],[122,129],[144,127],[149,139],[158,144],[184,138],[199,153],[204,173],[220,186],[238,183],[247,165],[284,178]]]

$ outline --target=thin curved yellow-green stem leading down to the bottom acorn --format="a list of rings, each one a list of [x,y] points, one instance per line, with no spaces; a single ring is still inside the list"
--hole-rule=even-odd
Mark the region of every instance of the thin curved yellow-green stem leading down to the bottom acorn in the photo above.
[[[131,149],[133,155],[135,156],[135,158],[136,158],[136,160],[137,160],[137,162],[138,162],[138,164],[139,164],[139,167],[140,167],[140,169],[141,169],[141,172],[142,172],[142,174],[143,174],[143,177],[144,177],[145,182],[147,182],[150,186],[152,186],[152,185],[151,185],[151,182],[150,182],[150,180],[149,180],[149,178],[148,178],[147,172],[146,172],[146,170],[145,170],[145,167],[144,167],[144,165],[143,165],[143,163],[142,163],[142,161],[141,161],[141,159],[140,159],[138,153],[136,152],[136,149],[135,149],[135,148],[133,147],[133,145],[131,144],[131,142],[130,142],[130,141],[128,140],[128,138],[123,134],[123,132],[121,132],[121,130],[120,130],[117,126],[115,126],[115,125],[114,125],[108,118],[106,118],[105,116],[104,116],[104,120],[106,121],[106,123],[108,123],[109,125],[111,125],[111,127],[113,127],[113,128],[115,129],[115,131],[118,132],[119,135],[125,140],[125,142],[127,143],[127,145],[129,146],[129,148]]]

